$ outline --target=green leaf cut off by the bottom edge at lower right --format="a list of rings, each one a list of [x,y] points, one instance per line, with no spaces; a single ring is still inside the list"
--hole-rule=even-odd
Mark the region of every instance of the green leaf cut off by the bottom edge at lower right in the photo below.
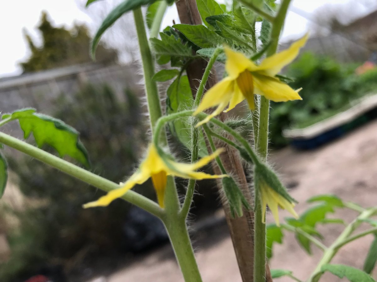
[[[348,265],[325,264],[321,267],[321,271],[329,271],[339,278],[346,277],[351,282],[375,282],[369,274]]]

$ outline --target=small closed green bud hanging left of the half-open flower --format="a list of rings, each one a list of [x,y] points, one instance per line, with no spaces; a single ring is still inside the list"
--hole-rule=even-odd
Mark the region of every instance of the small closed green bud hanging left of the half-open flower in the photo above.
[[[225,197],[227,197],[230,213],[233,218],[235,215],[242,217],[244,213],[242,206],[244,206],[245,209],[251,209],[250,204],[233,178],[224,177],[222,179],[222,188],[224,189]]]

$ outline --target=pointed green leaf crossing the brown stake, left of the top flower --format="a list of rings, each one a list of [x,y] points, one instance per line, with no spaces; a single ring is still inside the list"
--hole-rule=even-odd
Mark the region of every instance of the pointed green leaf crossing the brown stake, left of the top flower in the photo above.
[[[200,48],[217,47],[225,42],[224,38],[201,24],[196,26],[190,24],[175,24],[173,28],[178,29],[187,40]]]

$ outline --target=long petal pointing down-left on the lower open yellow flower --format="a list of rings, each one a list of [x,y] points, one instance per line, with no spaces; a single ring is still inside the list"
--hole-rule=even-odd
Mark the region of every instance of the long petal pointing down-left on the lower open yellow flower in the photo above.
[[[123,184],[123,186],[110,191],[105,196],[100,197],[100,199],[98,199],[95,202],[86,203],[85,205],[83,205],[83,208],[86,209],[95,206],[108,206],[113,200],[122,197],[133,186],[135,186],[136,184],[144,183],[148,178],[149,176],[145,178],[140,173],[134,173],[129,178],[129,180],[127,180],[126,183]]]

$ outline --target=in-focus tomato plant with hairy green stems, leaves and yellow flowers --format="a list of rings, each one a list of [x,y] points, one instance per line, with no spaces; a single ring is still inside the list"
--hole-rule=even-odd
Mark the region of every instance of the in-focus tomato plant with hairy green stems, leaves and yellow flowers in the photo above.
[[[93,2],[95,0],[89,0],[87,5]],[[375,220],[372,218],[377,214],[377,208],[364,209],[354,203],[344,203],[334,196],[320,195],[314,199],[310,199],[310,201],[320,201],[323,202],[322,205],[315,206],[298,216],[293,210],[295,200],[288,194],[277,175],[266,163],[270,117],[269,99],[276,102],[285,102],[300,98],[297,92],[301,85],[295,86],[292,89],[285,83],[286,79],[277,74],[283,66],[293,61],[306,40],[305,38],[300,39],[287,50],[276,53],[290,0],[282,0],[280,5],[276,5],[274,1],[240,0],[233,3],[231,11],[224,9],[224,6],[219,5],[215,0],[197,1],[196,4],[204,25],[175,24],[172,27],[164,29],[159,34],[160,39],[158,39],[156,37],[156,30],[159,30],[164,11],[168,4],[172,3],[162,1],[159,2],[158,7],[154,6],[148,9],[148,23],[151,26],[152,32],[150,40],[147,38],[147,30],[141,10],[142,5],[153,5],[153,1],[150,0],[126,0],[121,2],[105,18],[93,39],[92,55],[94,55],[103,32],[124,13],[133,11],[143,64],[152,140],[150,141],[147,158],[125,183],[117,184],[112,182],[78,167],[72,162],[67,162],[5,133],[0,132],[0,142],[108,192],[106,196],[100,198],[97,202],[90,203],[90,206],[108,205],[111,200],[122,198],[158,217],[167,230],[185,281],[202,281],[187,232],[187,216],[192,204],[195,182],[196,179],[200,178],[198,177],[199,175],[211,178],[216,176],[222,177],[221,187],[227,199],[225,209],[229,209],[233,217],[242,217],[245,212],[252,214],[252,211],[254,211],[253,230],[244,230],[244,232],[247,232],[247,238],[252,239],[254,243],[254,250],[244,251],[253,253],[253,260],[251,260],[251,263],[250,261],[246,263],[246,258],[244,258],[244,261],[242,259],[241,261],[239,260],[241,262],[241,273],[244,273],[243,268],[253,269],[253,273],[249,274],[248,277],[242,277],[244,281],[265,282],[266,280],[271,281],[272,277],[281,277],[284,275],[300,281],[293,276],[291,271],[270,271],[268,267],[266,268],[266,246],[272,247],[274,241],[280,243],[284,234],[283,231],[285,232],[285,230],[295,232],[297,240],[308,252],[310,252],[312,243],[324,252],[323,258],[313,270],[309,281],[318,281],[326,271],[339,277],[347,277],[351,281],[356,281],[355,279],[359,279],[358,281],[374,281],[366,272],[345,265],[333,265],[329,263],[340,247],[350,241],[377,231]],[[189,14],[189,11],[187,13]],[[256,21],[262,21],[260,33],[256,32]],[[257,40],[258,35],[262,44],[259,44]],[[152,51],[150,47],[152,47]],[[225,56],[224,49],[229,51],[225,51]],[[234,57],[237,59],[234,59]],[[260,62],[257,61],[262,57],[265,58]],[[187,73],[189,76],[188,66],[200,58],[209,58],[209,61],[204,73],[201,75],[202,79],[197,91],[192,93],[193,95],[189,95],[190,80],[187,83],[184,73]],[[213,83],[212,90],[208,91],[211,99],[207,99],[206,93],[204,93],[205,85],[207,84],[213,64],[217,60],[220,62],[225,61],[227,76],[221,82],[217,84]],[[155,61],[159,64],[170,62],[171,68],[156,73]],[[308,68],[309,71],[307,71],[308,69],[305,70],[304,67],[306,65],[301,65],[301,67],[297,68],[297,71],[303,69],[301,73],[302,78],[310,80],[311,83],[312,76],[308,76],[308,73],[315,74],[316,64],[313,61],[308,65],[311,66],[311,68]],[[333,77],[336,77],[336,80],[343,78],[343,72],[337,68],[337,65],[331,62],[324,65],[323,70],[317,74],[317,79],[323,79],[325,77],[323,74],[331,74]],[[313,75],[313,77],[315,76]],[[171,84],[174,86],[168,88],[164,97],[167,99],[167,107],[170,107],[168,109],[172,112],[167,111],[167,114],[164,115],[156,81],[171,79],[174,79]],[[331,79],[329,80],[331,81]],[[221,89],[222,91],[219,92],[217,97],[213,96],[213,89],[219,88],[219,85],[225,89]],[[328,83],[328,89],[322,89],[322,91],[324,93],[325,91],[335,91],[335,88],[331,88],[330,85],[331,83]],[[328,92],[326,93],[328,94]],[[254,94],[258,95],[254,96]],[[325,103],[325,106],[323,106],[323,101],[319,97],[325,96],[325,94],[318,95],[317,100],[310,99],[308,102],[317,111],[324,107],[332,107],[342,100],[339,97],[327,97],[331,96],[327,95],[325,100],[327,104]],[[202,96],[204,99],[201,100]],[[231,106],[234,106],[242,103],[244,99],[247,99],[250,105],[251,124],[253,125],[254,133],[253,143],[243,138],[227,122],[223,122],[223,117],[217,119],[214,115],[207,115],[196,110],[198,107],[199,109],[204,109],[218,105],[219,110],[216,114],[219,114],[221,109],[226,108],[228,102],[231,103]],[[284,105],[287,104],[284,103]],[[291,103],[290,105],[296,104]],[[300,107],[302,106],[300,105]],[[84,111],[82,113],[87,114]],[[19,121],[25,137],[28,137],[33,132],[39,147],[44,143],[50,144],[60,156],[69,155],[75,161],[87,165],[88,161],[81,141],[78,139],[78,132],[72,127],[67,126],[62,121],[35,113],[30,109],[3,115],[0,126],[15,120]],[[181,123],[175,123],[174,121],[176,120],[181,121]],[[237,122],[244,123],[244,120],[236,120]],[[185,146],[190,149],[191,164],[177,161],[171,155],[165,130],[165,127],[169,123],[178,135],[182,129],[187,130],[189,128],[191,138],[182,138],[181,141],[187,143],[190,140],[190,144],[185,144]],[[204,133],[201,133],[201,131]],[[227,148],[233,147],[238,151],[238,155],[236,156],[241,156],[247,162],[247,168],[253,174],[253,193],[249,190],[246,192],[242,190],[239,183],[235,180],[236,177],[228,173],[224,165],[224,156],[218,156],[216,153],[213,155],[205,153],[205,156],[199,159],[199,150],[202,149],[199,144],[202,139],[205,139],[208,152],[219,152],[216,151],[219,148],[217,147],[217,143],[215,143],[215,139],[222,141],[222,143],[228,146]],[[65,143],[63,143],[64,141]],[[229,152],[227,150],[228,154]],[[208,176],[208,174],[195,171],[213,158],[216,161],[214,168],[220,173]],[[5,161],[2,162],[5,163]],[[5,175],[5,166],[3,165],[2,167],[3,170],[0,171],[0,175]],[[127,173],[129,174],[129,171]],[[184,176],[189,179],[182,201],[176,189],[173,177],[175,175]],[[130,190],[133,185],[143,183],[149,176],[152,177],[154,182],[159,203]],[[81,198],[81,200],[85,199]],[[273,241],[269,239],[267,242],[264,218],[266,205],[271,209],[276,221],[276,225],[267,229],[267,232],[270,232],[268,238],[275,239]],[[279,207],[288,209],[296,218],[287,219],[287,224],[280,224],[278,216]],[[318,223],[331,221],[326,218],[326,214],[338,207],[354,209],[359,212],[359,215],[352,223],[345,227],[337,240],[331,246],[327,247],[316,238],[316,236],[320,237],[316,226]],[[98,212],[102,212],[102,210],[98,210]],[[339,222],[339,220],[335,221],[336,223]],[[372,227],[369,230],[352,235],[360,223],[365,221],[369,222]],[[236,230],[239,227],[231,226],[231,228],[233,228],[231,233],[239,232],[239,230]],[[267,255],[271,256],[271,252],[267,253]],[[373,250],[368,253],[365,271],[370,272],[373,268],[375,255]]]

